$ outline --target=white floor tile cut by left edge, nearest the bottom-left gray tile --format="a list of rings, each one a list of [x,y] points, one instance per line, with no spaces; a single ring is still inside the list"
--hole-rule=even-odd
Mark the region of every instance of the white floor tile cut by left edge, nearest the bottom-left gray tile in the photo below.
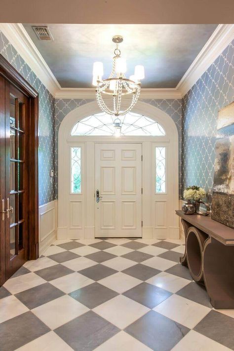
[[[0,299],[0,323],[29,311],[15,296]]]

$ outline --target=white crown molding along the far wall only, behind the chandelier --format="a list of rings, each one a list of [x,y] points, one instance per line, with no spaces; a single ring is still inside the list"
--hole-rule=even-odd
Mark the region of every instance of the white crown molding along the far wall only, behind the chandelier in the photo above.
[[[146,89],[142,88],[140,99],[181,99],[181,93],[176,88]],[[95,99],[95,88],[61,88],[56,91],[57,99]],[[106,97],[110,98],[109,95]],[[125,95],[124,99],[131,98]]]

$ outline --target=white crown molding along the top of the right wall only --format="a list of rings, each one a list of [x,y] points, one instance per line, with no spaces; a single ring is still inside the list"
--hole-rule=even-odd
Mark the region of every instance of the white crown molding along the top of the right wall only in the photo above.
[[[219,24],[194,62],[184,74],[176,89],[184,96],[202,74],[234,39],[234,24]]]

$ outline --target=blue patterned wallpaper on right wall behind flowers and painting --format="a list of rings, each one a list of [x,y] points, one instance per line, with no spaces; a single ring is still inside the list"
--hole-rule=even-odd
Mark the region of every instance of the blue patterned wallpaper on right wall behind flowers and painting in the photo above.
[[[234,41],[182,99],[182,188],[212,193],[216,119],[234,101]]]

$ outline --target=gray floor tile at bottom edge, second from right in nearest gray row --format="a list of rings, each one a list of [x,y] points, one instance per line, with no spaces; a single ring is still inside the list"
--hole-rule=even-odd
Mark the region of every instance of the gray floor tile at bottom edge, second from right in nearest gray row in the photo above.
[[[125,332],[155,351],[171,350],[188,332],[185,326],[149,311],[125,328]]]

